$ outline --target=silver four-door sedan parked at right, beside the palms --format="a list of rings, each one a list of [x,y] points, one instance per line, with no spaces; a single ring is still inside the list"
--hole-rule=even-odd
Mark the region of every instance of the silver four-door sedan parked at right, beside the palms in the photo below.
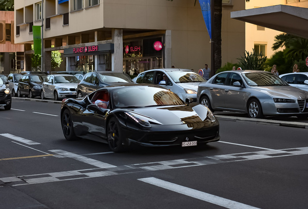
[[[248,113],[250,118],[308,117],[308,92],[265,71],[225,71],[199,85],[197,100],[212,110]]]

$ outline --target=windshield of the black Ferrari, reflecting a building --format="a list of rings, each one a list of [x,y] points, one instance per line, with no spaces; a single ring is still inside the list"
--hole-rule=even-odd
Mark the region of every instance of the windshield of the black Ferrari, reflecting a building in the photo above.
[[[156,87],[126,87],[113,90],[111,95],[113,105],[118,108],[185,104],[178,95],[173,92]]]

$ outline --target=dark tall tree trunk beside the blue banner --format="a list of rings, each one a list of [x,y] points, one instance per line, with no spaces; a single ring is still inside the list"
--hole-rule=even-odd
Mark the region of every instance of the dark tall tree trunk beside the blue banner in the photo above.
[[[173,1],[173,0],[169,0]],[[211,76],[221,67],[221,18],[222,18],[222,1],[211,0],[214,2],[214,24],[212,25],[212,42],[214,42],[214,69],[211,69]],[[246,0],[248,2],[249,0]],[[195,0],[196,6],[197,0]]]

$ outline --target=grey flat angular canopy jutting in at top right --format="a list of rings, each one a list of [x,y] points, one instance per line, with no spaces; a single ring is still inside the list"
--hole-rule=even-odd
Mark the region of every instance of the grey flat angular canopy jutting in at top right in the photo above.
[[[308,39],[308,8],[275,5],[231,12],[231,18]]]

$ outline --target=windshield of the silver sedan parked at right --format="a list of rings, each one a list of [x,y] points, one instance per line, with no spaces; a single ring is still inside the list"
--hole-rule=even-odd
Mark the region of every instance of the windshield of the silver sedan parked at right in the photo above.
[[[288,86],[288,83],[271,73],[242,74],[249,86]]]

